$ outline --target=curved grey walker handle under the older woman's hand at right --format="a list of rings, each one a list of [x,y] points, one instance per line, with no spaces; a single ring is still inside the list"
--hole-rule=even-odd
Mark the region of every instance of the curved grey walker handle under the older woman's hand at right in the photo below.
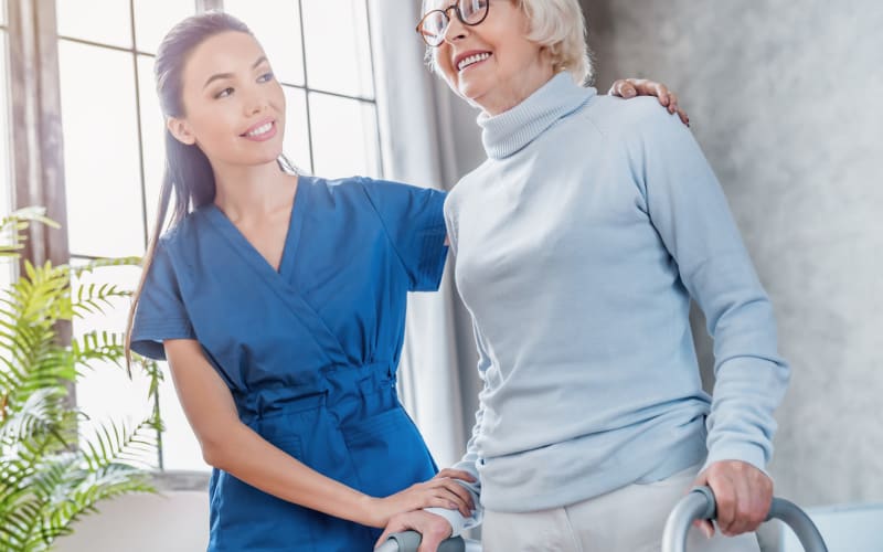
[[[714,492],[709,487],[694,487],[669,514],[662,533],[662,552],[685,552],[687,531],[694,520],[715,518]],[[797,535],[806,552],[828,552],[821,533],[804,510],[784,498],[773,498],[766,521],[773,518],[787,523]]]

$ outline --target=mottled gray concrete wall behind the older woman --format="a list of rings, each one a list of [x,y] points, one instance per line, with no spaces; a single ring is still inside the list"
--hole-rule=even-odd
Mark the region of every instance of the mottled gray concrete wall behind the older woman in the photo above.
[[[648,76],[680,94],[775,305],[794,373],[777,492],[883,501],[883,3],[585,8],[599,88]]]

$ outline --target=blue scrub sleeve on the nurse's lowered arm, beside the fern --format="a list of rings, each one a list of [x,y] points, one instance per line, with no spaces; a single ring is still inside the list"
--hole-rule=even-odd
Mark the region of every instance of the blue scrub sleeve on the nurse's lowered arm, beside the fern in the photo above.
[[[166,360],[162,348],[166,339],[195,339],[195,333],[181,300],[169,252],[160,240],[135,312],[131,349],[151,359]]]

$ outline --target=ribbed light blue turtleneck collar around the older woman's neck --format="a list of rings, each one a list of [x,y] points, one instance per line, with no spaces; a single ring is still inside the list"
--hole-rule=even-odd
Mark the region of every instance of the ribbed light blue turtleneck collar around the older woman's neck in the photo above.
[[[481,113],[481,142],[491,159],[504,159],[532,142],[556,120],[586,105],[595,88],[574,83],[570,73],[558,73],[515,107],[500,115]]]

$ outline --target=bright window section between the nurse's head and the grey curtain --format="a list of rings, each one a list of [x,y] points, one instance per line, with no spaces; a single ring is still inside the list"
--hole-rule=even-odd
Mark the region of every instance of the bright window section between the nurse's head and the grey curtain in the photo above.
[[[322,177],[380,176],[365,0],[224,0],[249,25],[283,83],[285,150]]]

